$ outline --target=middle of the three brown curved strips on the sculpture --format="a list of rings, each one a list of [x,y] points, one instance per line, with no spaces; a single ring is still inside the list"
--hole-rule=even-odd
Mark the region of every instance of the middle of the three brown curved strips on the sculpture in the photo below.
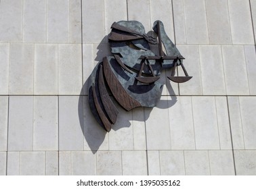
[[[103,71],[102,71],[102,65],[100,65],[100,73],[99,73],[99,90],[100,90],[100,99],[102,99],[102,104],[104,106],[104,109],[108,114],[108,117],[111,123],[114,124],[116,122],[116,118],[117,118],[117,115],[119,114],[119,111],[114,106],[114,103],[111,101],[108,95],[108,91],[106,90]]]

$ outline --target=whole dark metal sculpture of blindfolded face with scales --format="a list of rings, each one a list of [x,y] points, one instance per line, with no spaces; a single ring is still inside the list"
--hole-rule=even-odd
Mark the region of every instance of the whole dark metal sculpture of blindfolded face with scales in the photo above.
[[[154,22],[153,30],[146,34],[137,21],[112,24],[108,36],[112,56],[104,57],[95,66],[88,83],[91,112],[108,132],[118,115],[108,91],[119,105],[130,111],[135,107],[156,106],[163,90],[158,80],[161,70],[182,65],[186,76],[174,76],[173,72],[168,78],[174,82],[192,78],[186,73],[184,57],[165,33],[163,23]]]

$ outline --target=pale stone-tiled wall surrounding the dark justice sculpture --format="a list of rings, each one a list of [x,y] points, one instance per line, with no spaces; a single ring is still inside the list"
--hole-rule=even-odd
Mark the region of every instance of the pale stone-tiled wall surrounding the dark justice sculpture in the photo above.
[[[106,133],[87,79],[119,20],[161,20],[193,78]],[[0,175],[256,175],[255,28],[256,0],[0,0]]]

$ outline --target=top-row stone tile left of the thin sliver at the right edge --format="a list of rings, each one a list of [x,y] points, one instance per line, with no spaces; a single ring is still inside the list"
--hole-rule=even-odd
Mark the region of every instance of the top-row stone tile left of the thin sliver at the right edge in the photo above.
[[[233,44],[253,45],[253,26],[249,1],[228,0]]]

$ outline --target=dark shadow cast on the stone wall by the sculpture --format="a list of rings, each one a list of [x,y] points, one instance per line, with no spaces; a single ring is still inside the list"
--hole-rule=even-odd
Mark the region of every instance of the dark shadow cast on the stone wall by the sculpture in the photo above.
[[[97,56],[95,57],[95,61],[102,61],[103,57],[106,57],[108,55],[111,55],[110,48],[108,43],[106,43],[106,37],[102,40],[102,42],[98,45],[97,49]],[[156,105],[156,108],[158,109],[168,109],[169,107],[172,107],[177,102],[177,97],[175,96],[175,92],[173,91],[173,88],[169,82],[169,80],[166,78],[166,71],[163,71],[163,74],[161,74],[161,80],[163,84],[166,84],[168,93],[170,94],[169,99],[162,98],[160,101],[158,101],[158,104]],[[105,144],[104,140],[106,137],[108,137],[108,132],[98,124],[96,119],[93,117],[93,114],[91,113],[91,109],[89,107],[89,101],[88,101],[88,81],[87,79],[85,83],[83,84],[83,87],[80,92],[79,96],[79,102],[78,102],[78,114],[79,114],[79,121],[81,130],[83,131],[83,136],[85,137],[85,149],[91,150],[93,154],[95,154],[101,147],[102,148],[108,148],[108,146],[102,146],[108,145]],[[116,107],[119,109],[119,115],[116,120],[116,124],[112,126],[112,130],[110,132],[116,132],[117,130],[121,128],[127,128],[131,126],[131,121],[146,121],[148,117],[150,117],[150,113],[153,108],[136,108],[133,109],[131,112],[125,111],[114,99],[112,98],[112,101],[116,105]],[[129,115],[129,113],[131,113]],[[140,116],[142,115],[142,116]],[[129,119],[127,119],[129,117]],[[118,142],[118,141],[117,141]],[[108,142],[106,142],[108,143]]]

